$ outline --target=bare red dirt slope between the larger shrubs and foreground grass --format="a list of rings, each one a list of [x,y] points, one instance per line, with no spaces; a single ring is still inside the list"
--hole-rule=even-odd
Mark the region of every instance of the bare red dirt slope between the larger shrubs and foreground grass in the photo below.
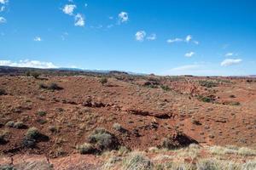
[[[147,80],[148,79],[148,80]],[[153,80],[152,80],[153,79]],[[205,88],[199,80],[221,80],[217,87]],[[148,88],[145,82],[167,85],[171,90]],[[62,90],[40,89],[39,83],[55,82]],[[161,144],[163,138],[182,131],[200,144],[256,143],[256,82],[225,77],[134,77],[133,80],[108,78],[102,86],[97,77],[0,77],[0,132],[9,131],[8,142],[0,144],[3,154],[41,154],[51,157],[76,153],[96,127],[113,133],[119,143],[132,150],[145,150]],[[213,103],[197,99],[213,96]],[[231,98],[230,95],[235,98]],[[240,105],[229,105],[230,101]],[[223,105],[226,104],[226,105]],[[228,105],[227,105],[228,104]],[[46,116],[38,116],[46,111]],[[47,122],[40,124],[41,119]],[[20,148],[27,129],[5,127],[9,121],[24,122],[49,136],[34,149]],[[119,123],[127,132],[113,129]],[[51,133],[49,126],[60,127]]]

